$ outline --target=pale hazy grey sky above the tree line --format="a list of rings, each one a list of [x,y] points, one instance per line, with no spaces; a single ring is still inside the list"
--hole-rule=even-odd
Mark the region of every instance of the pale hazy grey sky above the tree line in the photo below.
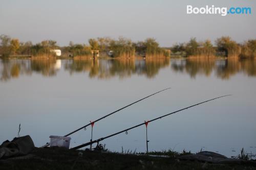
[[[186,5],[251,7],[250,15],[188,15]],[[124,36],[134,41],[154,37],[170,46],[228,35],[238,42],[256,38],[256,1],[170,0],[1,0],[0,34],[21,41],[53,39],[87,43],[89,38]]]

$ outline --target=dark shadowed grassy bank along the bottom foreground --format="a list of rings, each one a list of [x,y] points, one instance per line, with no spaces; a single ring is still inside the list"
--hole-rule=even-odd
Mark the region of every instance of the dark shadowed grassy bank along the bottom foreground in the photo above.
[[[131,153],[132,151],[126,151]],[[181,154],[188,154],[183,151]],[[176,155],[173,151],[151,154]],[[25,159],[26,158],[26,159]],[[11,169],[256,169],[251,164],[209,164],[182,161],[177,157],[118,154],[95,151],[73,151],[63,148],[36,148],[30,155],[0,160],[1,170]]]

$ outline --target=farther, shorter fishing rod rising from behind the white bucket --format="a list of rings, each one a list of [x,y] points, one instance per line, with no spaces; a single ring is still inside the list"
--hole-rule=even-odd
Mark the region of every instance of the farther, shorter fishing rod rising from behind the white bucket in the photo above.
[[[83,126],[83,127],[81,127],[81,128],[78,128],[77,130],[75,130],[75,131],[73,131],[73,132],[68,133],[67,135],[65,135],[65,137],[66,137],[66,136],[69,136],[69,135],[71,135],[71,134],[73,134],[73,133],[75,133],[75,132],[77,132],[77,131],[79,131],[79,130],[81,130],[81,129],[85,129],[86,127],[88,127],[88,126],[90,126],[90,125],[92,126],[92,130],[93,130],[94,123],[98,122],[99,120],[101,120],[101,119],[103,119],[103,118],[106,118],[106,117],[108,117],[108,116],[110,116],[110,115],[112,115],[112,114],[114,114],[114,113],[116,113],[116,112],[119,112],[120,110],[125,109],[126,107],[132,106],[132,105],[134,105],[135,103],[138,103],[138,102],[140,102],[140,101],[142,101],[142,100],[144,100],[144,99],[146,99],[146,98],[149,98],[149,97],[152,96],[152,95],[155,95],[155,94],[157,94],[157,93],[160,93],[160,92],[162,92],[162,91],[164,91],[164,90],[167,90],[167,89],[170,89],[170,88],[172,88],[172,87],[168,87],[168,88],[165,88],[165,89],[163,89],[163,90],[157,91],[157,92],[155,92],[155,93],[153,93],[153,94],[151,94],[151,95],[146,96],[145,98],[142,98],[142,99],[140,99],[140,100],[138,100],[138,101],[136,101],[136,102],[133,102],[133,103],[127,105],[127,106],[124,106],[124,107],[122,107],[122,108],[120,108],[120,109],[118,109],[118,110],[116,110],[116,111],[114,111],[114,112],[111,112],[111,113],[109,113],[109,114],[107,114],[107,115],[105,115],[105,116],[103,116],[103,117],[100,117],[100,118],[98,118],[98,119],[95,120],[95,121],[90,121],[90,124],[87,124],[87,125],[85,125],[85,126]],[[92,135],[91,135],[91,141],[92,141]],[[50,145],[50,144],[47,143],[47,144],[43,145],[41,148],[48,147],[49,145]]]

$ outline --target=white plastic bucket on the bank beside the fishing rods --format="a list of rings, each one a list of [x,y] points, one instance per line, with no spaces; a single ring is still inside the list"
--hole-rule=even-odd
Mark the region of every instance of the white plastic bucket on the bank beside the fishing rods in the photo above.
[[[50,136],[50,147],[65,147],[69,149],[71,137]]]

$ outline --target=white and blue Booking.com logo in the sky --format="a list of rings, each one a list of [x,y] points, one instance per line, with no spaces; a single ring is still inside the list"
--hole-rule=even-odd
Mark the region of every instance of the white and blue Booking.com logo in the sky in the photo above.
[[[227,14],[251,14],[250,7],[215,7],[214,5],[205,7],[193,7],[187,5],[187,14],[221,14],[221,16],[226,16]]]

